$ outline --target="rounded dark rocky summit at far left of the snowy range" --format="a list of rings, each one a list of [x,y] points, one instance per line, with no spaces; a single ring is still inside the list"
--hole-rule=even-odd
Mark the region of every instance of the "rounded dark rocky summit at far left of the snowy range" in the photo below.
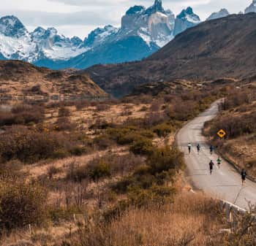
[[[0,33],[11,37],[27,36],[29,34],[23,23],[14,15],[0,18]]]

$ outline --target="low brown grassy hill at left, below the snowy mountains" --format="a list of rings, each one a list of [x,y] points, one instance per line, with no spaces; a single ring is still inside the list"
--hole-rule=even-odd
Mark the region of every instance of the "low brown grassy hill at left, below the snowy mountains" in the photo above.
[[[75,72],[75,71],[74,71]],[[105,97],[88,75],[53,71],[23,61],[0,61],[0,97],[75,98]]]

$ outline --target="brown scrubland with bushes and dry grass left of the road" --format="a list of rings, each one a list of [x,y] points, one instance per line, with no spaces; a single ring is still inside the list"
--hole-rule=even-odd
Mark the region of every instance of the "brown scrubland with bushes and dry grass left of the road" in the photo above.
[[[235,228],[221,232],[230,224],[218,201],[190,191],[173,145],[187,120],[227,93],[1,104],[0,244],[252,242],[252,231],[237,244]]]

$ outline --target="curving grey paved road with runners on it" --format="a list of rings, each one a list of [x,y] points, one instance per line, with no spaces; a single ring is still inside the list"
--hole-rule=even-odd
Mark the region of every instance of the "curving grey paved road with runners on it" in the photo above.
[[[185,154],[187,164],[187,178],[192,184],[211,196],[229,201],[241,208],[248,208],[248,201],[256,204],[256,183],[246,180],[246,185],[241,185],[241,177],[233,167],[222,160],[218,169],[216,160],[218,155],[210,155],[206,138],[202,135],[203,124],[214,118],[218,113],[218,102],[200,116],[189,122],[178,132],[178,147]],[[225,141],[225,140],[224,140]],[[192,143],[192,152],[188,153],[187,145]],[[200,154],[197,154],[196,145],[201,145]],[[214,161],[213,174],[209,173],[209,162]]]

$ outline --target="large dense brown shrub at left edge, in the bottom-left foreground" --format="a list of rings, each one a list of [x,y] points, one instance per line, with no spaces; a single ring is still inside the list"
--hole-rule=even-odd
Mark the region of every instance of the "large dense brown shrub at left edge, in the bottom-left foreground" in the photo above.
[[[45,220],[47,193],[37,184],[5,183],[0,186],[0,228],[21,228]]]

